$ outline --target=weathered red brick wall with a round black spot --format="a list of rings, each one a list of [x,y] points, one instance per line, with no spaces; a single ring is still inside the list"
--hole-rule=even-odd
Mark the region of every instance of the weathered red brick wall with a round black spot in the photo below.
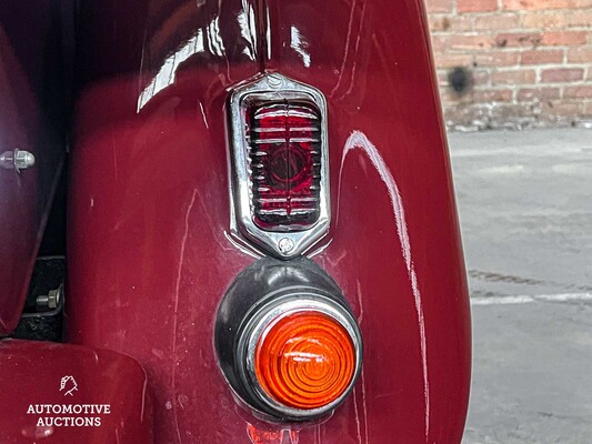
[[[592,0],[425,0],[449,128],[592,125]]]

